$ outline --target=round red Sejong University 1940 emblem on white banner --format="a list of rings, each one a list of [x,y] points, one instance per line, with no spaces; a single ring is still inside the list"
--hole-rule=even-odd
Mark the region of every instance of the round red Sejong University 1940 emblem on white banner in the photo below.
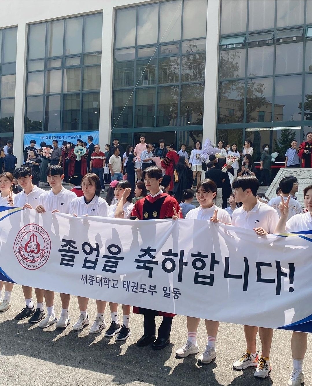
[[[13,249],[24,268],[38,269],[49,259],[51,240],[40,225],[27,224],[19,231]]]

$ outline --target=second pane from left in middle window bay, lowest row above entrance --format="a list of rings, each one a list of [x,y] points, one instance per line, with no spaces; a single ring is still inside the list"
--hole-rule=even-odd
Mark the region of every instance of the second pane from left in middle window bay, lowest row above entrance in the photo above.
[[[135,98],[135,127],[155,126],[155,88],[136,90]]]

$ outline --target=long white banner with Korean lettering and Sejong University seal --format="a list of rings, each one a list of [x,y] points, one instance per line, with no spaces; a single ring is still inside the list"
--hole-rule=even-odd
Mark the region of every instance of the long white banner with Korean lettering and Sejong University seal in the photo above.
[[[0,280],[312,332],[311,234],[263,238],[204,220],[76,218],[0,207]]]

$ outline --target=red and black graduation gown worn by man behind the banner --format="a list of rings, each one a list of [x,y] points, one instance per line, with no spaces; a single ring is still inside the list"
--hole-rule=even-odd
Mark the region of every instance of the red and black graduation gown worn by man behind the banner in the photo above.
[[[132,210],[131,216],[137,217],[139,220],[151,220],[151,219],[155,220],[157,218],[172,217],[174,216],[173,208],[175,208],[175,211],[177,213],[180,210],[178,201],[174,197],[169,196],[167,193],[161,193],[156,197],[152,197],[148,195],[145,198],[138,200],[134,204],[134,208]],[[180,218],[183,218],[182,214],[180,214]],[[175,314],[162,312],[162,311],[149,310],[147,308],[141,308],[141,307],[135,307],[135,306],[133,306],[133,313],[139,313],[143,315],[152,314],[152,315],[159,315],[159,316],[165,316],[165,317],[175,316]]]

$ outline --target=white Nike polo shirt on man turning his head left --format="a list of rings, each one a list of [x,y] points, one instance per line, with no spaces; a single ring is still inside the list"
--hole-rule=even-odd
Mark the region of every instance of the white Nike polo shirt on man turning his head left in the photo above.
[[[232,225],[250,230],[262,227],[268,233],[274,233],[278,220],[277,211],[260,201],[249,212],[240,207],[232,215]]]

